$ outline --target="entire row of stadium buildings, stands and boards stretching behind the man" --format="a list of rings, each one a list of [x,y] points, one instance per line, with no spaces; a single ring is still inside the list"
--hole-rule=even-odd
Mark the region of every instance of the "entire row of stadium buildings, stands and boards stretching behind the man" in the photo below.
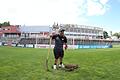
[[[111,44],[120,44],[120,40],[103,39],[103,28],[77,24],[1,27],[0,42],[12,46],[48,48],[49,35],[58,34],[61,28],[66,30],[69,48],[109,48],[112,47]],[[52,47],[54,47],[54,40]]]

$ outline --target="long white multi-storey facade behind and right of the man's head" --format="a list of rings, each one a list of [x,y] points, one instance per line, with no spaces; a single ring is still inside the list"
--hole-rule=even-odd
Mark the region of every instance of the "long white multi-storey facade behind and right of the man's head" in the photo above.
[[[86,25],[76,25],[76,24],[60,24],[53,25],[53,30],[65,29],[65,35],[68,38],[82,38],[82,39],[97,39],[103,36],[103,28],[86,26]]]

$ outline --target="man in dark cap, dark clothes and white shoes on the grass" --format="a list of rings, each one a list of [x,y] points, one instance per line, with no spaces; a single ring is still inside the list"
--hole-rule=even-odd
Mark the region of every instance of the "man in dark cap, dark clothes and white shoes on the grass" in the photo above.
[[[64,65],[62,63],[63,57],[64,57],[64,50],[63,50],[63,45],[65,45],[65,49],[67,49],[67,38],[64,35],[64,29],[59,30],[59,34],[51,36],[52,39],[55,40],[55,46],[53,49],[54,52],[54,57],[55,57],[55,62],[53,65],[53,69],[57,69],[57,64],[58,64],[58,59],[60,60],[59,67],[64,68]]]

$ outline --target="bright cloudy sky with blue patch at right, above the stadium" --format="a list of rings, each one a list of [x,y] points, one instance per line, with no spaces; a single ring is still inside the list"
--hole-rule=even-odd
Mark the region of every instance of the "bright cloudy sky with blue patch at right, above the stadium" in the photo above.
[[[0,22],[95,25],[120,32],[120,0],[0,0]]]

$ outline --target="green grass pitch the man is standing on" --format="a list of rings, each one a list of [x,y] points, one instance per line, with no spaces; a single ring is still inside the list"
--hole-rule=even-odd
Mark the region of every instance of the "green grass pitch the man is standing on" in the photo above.
[[[79,69],[45,69],[47,49],[0,47],[0,80],[120,80],[120,48],[66,50],[64,63]]]

